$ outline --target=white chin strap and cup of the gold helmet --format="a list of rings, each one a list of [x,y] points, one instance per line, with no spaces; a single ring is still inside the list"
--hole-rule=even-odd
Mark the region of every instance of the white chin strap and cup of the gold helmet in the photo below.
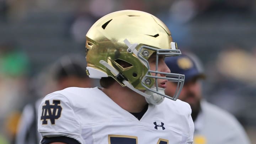
[[[106,66],[107,69],[109,69],[114,75],[118,75],[119,72],[113,68],[111,65],[109,65],[107,62],[105,62],[104,60],[100,60],[100,63],[104,66]],[[162,101],[164,101],[164,97],[159,95],[159,94],[156,94],[152,91],[149,91],[149,90],[146,90],[145,92],[142,92],[140,90],[137,90],[133,87],[133,85],[131,85],[128,81],[126,80],[123,80],[122,81],[124,85],[126,85],[127,87],[129,87],[129,89],[137,92],[138,94],[142,95],[145,97],[146,101],[149,103],[149,104],[153,104],[153,105],[159,105]],[[154,87],[153,90],[156,91],[156,88]],[[164,93],[164,89],[162,88],[158,88],[158,92],[160,92],[161,94],[165,94]]]

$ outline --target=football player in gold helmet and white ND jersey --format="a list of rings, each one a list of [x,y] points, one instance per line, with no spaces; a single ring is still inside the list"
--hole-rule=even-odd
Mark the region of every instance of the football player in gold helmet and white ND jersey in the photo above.
[[[184,75],[164,59],[181,55],[157,17],[122,10],[100,18],[86,34],[87,74],[101,87],[70,87],[43,98],[41,144],[191,144],[191,108],[177,100]],[[166,82],[178,87],[164,94]]]

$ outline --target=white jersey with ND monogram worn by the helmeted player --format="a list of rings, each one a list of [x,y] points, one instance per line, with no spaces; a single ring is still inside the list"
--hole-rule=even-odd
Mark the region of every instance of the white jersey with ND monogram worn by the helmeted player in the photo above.
[[[43,137],[66,136],[81,144],[190,144],[190,106],[165,99],[149,105],[140,121],[97,87],[70,87],[43,98],[38,113]]]

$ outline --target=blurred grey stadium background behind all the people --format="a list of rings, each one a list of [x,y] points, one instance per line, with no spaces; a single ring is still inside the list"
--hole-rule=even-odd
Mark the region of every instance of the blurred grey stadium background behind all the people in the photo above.
[[[234,114],[256,144],[255,0],[0,0],[0,144],[14,141],[22,107],[38,98],[31,87],[50,92],[50,65],[84,55],[89,27],[124,9],[159,17],[181,51],[198,55],[204,97]]]

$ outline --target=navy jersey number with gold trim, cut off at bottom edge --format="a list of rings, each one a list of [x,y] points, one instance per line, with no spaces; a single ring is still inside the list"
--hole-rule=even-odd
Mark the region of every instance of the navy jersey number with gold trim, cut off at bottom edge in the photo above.
[[[138,144],[138,137],[129,135],[108,135],[108,144]],[[156,144],[169,144],[169,140],[159,139]]]

